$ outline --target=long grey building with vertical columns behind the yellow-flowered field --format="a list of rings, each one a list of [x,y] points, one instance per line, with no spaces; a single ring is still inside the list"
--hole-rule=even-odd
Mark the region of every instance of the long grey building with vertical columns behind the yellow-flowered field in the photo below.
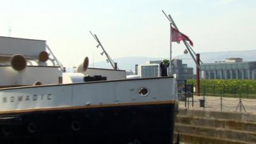
[[[256,79],[256,61],[228,58],[200,65],[202,79]]]

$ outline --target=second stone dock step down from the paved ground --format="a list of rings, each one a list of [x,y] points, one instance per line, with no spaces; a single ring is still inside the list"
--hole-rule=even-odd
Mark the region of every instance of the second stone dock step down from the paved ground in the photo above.
[[[256,132],[256,122],[242,122],[236,120],[226,120],[221,118],[204,118],[204,117],[189,117],[177,115],[175,122],[178,124],[198,125],[204,127],[223,128],[230,130]]]

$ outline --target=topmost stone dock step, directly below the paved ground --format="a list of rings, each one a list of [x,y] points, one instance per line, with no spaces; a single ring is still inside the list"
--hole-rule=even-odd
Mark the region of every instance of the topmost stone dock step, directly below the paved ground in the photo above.
[[[236,112],[223,112],[223,111],[204,111],[200,109],[179,109],[181,116],[196,116],[206,118],[220,118],[227,120],[236,120],[243,122],[256,122],[255,113],[236,113]]]

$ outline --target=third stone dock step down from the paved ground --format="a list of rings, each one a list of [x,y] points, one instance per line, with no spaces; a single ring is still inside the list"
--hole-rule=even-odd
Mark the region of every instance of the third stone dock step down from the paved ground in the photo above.
[[[188,124],[175,124],[175,132],[182,132],[186,134],[196,134],[197,136],[206,136],[211,138],[246,141],[253,143],[256,141],[256,132],[237,131],[223,128],[195,126]]]

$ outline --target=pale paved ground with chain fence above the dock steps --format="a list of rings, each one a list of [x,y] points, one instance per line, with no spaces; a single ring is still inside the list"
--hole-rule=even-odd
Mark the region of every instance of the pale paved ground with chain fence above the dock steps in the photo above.
[[[186,108],[188,109],[204,109],[200,108],[200,99],[204,99],[202,96],[194,96],[194,106],[192,107],[192,98],[189,98],[189,104],[187,102]],[[222,104],[221,104],[222,101]],[[256,99],[241,99],[241,103],[237,98],[223,97],[211,97],[205,96],[205,110],[213,111],[241,111],[244,109],[247,113],[256,113]],[[179,102],[179,108],[185,108],[185,102]],[[240,109],[241,108],[241,109]]]

